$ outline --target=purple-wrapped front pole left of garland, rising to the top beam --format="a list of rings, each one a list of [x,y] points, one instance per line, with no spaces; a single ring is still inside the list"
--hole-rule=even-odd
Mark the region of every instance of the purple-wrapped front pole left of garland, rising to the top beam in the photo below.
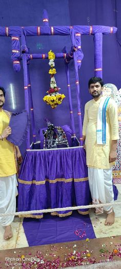
[[[29,115],[29,95],[28,95],[28,76],[27,76],[27,55],[26,55],[26,34],[22,28],[22,58],[23,58],[23,69],[24,69],[24,90],[25,90],[25,110]],[[27,149],[30,149],[30,128],[28,128],[26,135]]]

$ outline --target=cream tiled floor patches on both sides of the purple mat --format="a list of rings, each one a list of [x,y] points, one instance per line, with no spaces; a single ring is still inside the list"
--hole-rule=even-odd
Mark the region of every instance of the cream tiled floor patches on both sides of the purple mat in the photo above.
[[[116,202],[121,202],[121,184],[116,184],[118,189],[118,200]],[[115,211],[115,224],[112,226],[104,225],[106,215],[95,215],[93,209],[90,210],[90,219],[94,228],[96,238],[118,236],[121,234],[121,210],[120,205],[114,206]],[[28,242],[24,233],[23,228],[23,219],[15,217],[13,223],[11,224],[13,237],[6,241],[3,239],[4,229],[0,227],[0,250],[18,248],[18,247],[27,247]]]

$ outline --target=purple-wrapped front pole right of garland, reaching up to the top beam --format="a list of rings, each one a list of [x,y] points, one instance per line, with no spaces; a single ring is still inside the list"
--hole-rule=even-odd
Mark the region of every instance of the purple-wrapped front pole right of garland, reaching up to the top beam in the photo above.
[[[77,47],[75,43],[75,40],[76,40],[75,32],[73,29],[71,30],[71,40],[72,40],[72,45],[74,47]],[[79,89],[78,64],[77,64],[76,51],[73,53],[73,59],[74,59],[75,84],[76,84],[76,96],[77,96],[79,142],[80,142],[80,146],[82,146],[83,145],[83,131],[82,131],[82,116],[81,116],[81,111],[80,111],[80,89]]]

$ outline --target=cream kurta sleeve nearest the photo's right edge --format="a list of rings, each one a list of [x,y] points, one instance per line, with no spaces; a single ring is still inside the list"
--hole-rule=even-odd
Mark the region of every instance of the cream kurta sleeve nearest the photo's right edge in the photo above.
[[[110,128],[111,128],[111,139],[117,140],[119,139],[118,134],[118,112],[117,112],[117,104],[113,99],[110,99],[108,106],[108,115],[110,120]]]

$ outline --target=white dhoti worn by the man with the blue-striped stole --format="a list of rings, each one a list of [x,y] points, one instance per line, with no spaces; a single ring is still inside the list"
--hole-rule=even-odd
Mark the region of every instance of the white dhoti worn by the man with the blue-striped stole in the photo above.
[[[88,167],[88,179],[93,204],[111,203],[114,201],[112,168],[98,169]],[[103,213],[103,209],[107,213],[111,213],[113,207],[105,206],[96,208],[96,214]]]

